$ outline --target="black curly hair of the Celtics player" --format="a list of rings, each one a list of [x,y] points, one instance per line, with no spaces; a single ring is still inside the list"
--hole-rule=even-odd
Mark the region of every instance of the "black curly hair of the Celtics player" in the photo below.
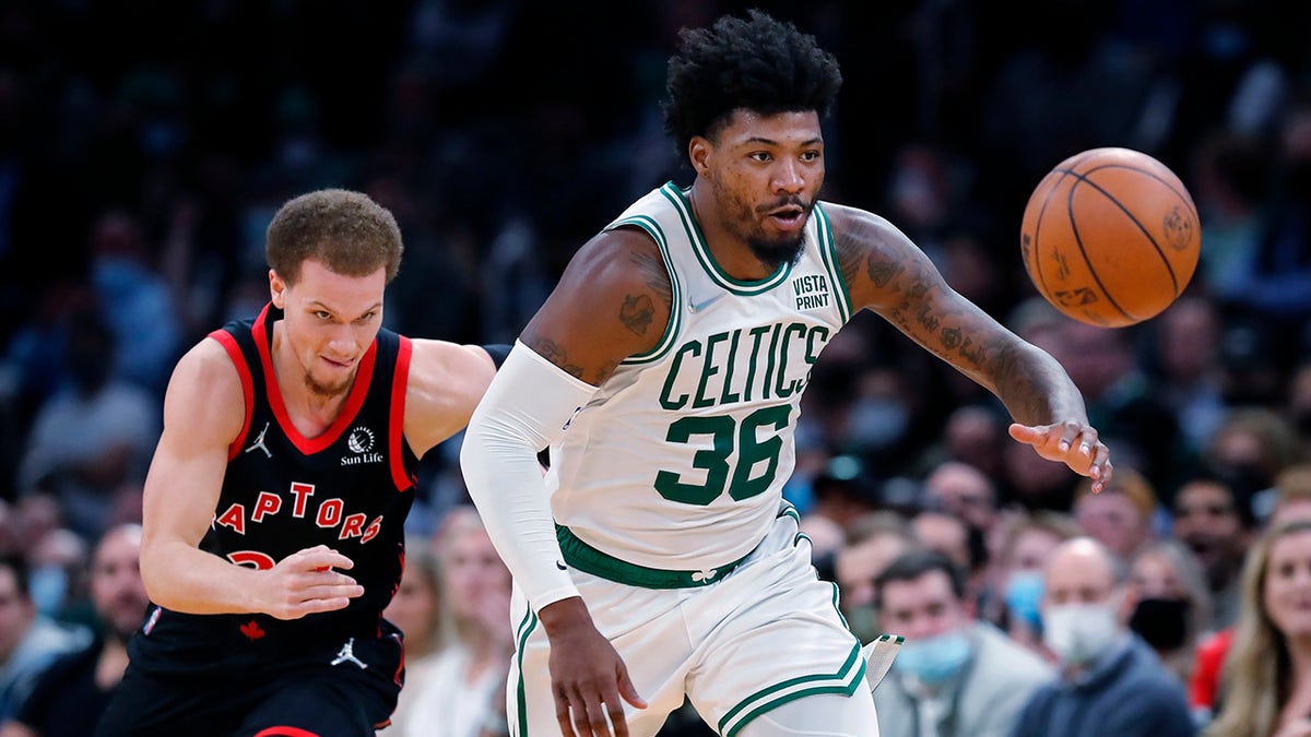
[[[669,60],[665,130],[679,155],[694,136],[713,138],[735,110],[766,115],[832,109],[842,87],[838,59],[791,22],[760,10],[682,29]]]

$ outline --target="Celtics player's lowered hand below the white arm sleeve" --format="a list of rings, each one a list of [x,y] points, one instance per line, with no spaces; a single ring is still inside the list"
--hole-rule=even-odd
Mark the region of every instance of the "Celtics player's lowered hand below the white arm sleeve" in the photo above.
[[[551,691],[564,737],[628,737],[620,699],[637,708],[646,702],[628,678],[628,666],[578,597],[541,607],[551,640]],[[614,732],[611,732],[614,728]]]

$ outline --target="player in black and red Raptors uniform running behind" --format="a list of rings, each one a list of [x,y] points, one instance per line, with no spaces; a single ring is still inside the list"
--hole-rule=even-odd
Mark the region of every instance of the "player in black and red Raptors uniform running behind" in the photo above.
[[[382,328],[401,235],[363,194],[287,202],[271,302],[177,365],[144,492],[151,607],[97,734],[371,736],[402,675],[420,456],[464,428],[496,348]]]

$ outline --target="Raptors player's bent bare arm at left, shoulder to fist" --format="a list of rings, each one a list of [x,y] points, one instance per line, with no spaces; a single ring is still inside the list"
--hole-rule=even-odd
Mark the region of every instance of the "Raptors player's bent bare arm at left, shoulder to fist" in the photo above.
[[[164,396],[164,433],[143,496],[142,581],[155,603],[190,614],[265,612],[296,619],[342,608],[363,588],[324,546],[256,570],[199,549],[214,518],[228,446],[245,397],[224,349],[206,338],[178,362]]]

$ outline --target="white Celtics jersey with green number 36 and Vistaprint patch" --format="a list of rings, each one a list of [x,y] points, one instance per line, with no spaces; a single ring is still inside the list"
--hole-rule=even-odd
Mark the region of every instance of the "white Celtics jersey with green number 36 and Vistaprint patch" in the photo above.
[[[801,392],[851,317],[822,206],[796,264],[755,282],[714,262],[673,182],[607,229],[659,245],[674,304],[648,354],[624,361],[551,448],[556,522],[620,560],[708,570],[768,532],[796,460]]]

